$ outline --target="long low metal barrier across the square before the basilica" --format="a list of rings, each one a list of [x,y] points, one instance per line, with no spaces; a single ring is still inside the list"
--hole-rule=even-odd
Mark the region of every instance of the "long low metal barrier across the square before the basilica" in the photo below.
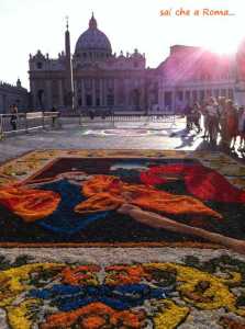
[[[164,113],[164,114],[90,114],[82,113],[80,114],[79,124],[102,124],[102,123],[112,123],[114,126],[116,123],[169,123],[171,126],[176,124],[176,115],[174,113]]]

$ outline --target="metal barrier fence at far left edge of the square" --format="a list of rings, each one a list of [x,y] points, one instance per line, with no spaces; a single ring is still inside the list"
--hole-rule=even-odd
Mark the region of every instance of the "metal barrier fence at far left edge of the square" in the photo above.
[[[55,126],[59,117],[58,112],[27,112],[0,114],[0,139],[4,135],[32,129],[44,129],[46,125]]]

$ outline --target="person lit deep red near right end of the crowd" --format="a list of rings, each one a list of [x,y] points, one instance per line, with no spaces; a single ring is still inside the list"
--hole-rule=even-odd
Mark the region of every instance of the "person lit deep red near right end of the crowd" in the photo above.
[[[229,147],[235,149],[238,134],[238,115],[232,100],[226,101],[226,141]]]

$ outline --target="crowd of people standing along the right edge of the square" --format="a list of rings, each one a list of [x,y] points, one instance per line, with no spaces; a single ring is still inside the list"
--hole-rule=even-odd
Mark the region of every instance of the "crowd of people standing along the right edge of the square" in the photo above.
[[[226,98],[209,98],[203,104],[188,104],[185,109],[187,129],[197,134],[203,132],[203,138],[224,148],[245,151],[245,107],[237,106]]]

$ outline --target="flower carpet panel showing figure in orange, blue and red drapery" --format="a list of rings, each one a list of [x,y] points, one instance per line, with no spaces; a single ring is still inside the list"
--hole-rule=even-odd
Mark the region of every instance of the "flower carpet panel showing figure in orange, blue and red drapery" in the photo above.
[[[138,223],[125,203],[244,239],[244,184],[245,167],[220,152],[33,151],[0,168],[0,243],[208,242]]]

